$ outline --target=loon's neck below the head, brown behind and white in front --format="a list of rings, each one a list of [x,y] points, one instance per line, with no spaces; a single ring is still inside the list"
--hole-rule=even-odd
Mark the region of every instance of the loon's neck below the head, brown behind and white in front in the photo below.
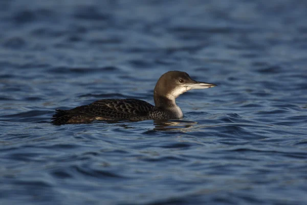
[[[153,95],[153,99],[155,100],[155,106],[160,108],[161,110],[169,112],[175,118],[182,118],[183,112],[180,107],[176,104],[176,99],[168,98],[165,96],[158,95],[156,92]]]

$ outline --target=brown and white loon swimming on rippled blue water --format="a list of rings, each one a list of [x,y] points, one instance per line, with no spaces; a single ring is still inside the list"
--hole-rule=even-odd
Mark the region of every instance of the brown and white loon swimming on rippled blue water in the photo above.
[[[63,125],[89,123],[93,120],[180,119],[183,112],[176,104],[179,95],[192,89],[214,86],[195,81],[186,72],[169,71],[159,78],[153,91],[155,106],[140,99],[101,99],[71,110],[57,109],[52,123]]]

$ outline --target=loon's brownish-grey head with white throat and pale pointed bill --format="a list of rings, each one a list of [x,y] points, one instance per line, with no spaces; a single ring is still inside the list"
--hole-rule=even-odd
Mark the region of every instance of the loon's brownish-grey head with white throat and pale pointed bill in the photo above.
[[[159,97],[165,97],[170,100],[175,100],[182,93],[192,89],[211,88],[216,85],[195,81],[191,79],[189,74],[181,71],[169,71],[164,73],[158,80],[155,90],[155,104],[159,107]]]

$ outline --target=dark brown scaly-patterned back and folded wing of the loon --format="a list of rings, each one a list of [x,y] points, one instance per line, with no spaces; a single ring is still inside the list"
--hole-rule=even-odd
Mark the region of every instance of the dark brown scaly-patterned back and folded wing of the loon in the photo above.
[[[102,99],[71,110],[56,110],[53,124],[84,123],[95,119],[137,119],[157,108],[139,99]]]

